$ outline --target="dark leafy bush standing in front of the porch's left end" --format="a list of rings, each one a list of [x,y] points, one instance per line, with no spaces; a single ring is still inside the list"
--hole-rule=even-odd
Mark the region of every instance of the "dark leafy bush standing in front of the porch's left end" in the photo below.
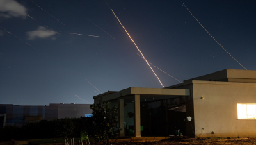
[[[90,105],[93,110],[93,135],[95,141],[109,144],[109,139],[118,139],[121,128],[118,128],[118,108],[109,107],[109,103]]]

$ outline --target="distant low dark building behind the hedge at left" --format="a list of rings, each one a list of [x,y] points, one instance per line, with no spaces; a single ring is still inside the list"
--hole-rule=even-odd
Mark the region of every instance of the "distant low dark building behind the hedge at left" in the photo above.
[[[4,109],[1,109],[4,108]],[[34,105],[13,105],[0,104],[0,119],[4,116],[5,125],[22,126],[29,121],[53,120],[71,117],[85,117],[91,114],[90,104],[64,104],[50,103],[49,106],[34,106]],[[2,115],[4,114],[4,115]],[[0,120],[0,123],[3,119]],[[0,126],[1,127],[1,126]]]

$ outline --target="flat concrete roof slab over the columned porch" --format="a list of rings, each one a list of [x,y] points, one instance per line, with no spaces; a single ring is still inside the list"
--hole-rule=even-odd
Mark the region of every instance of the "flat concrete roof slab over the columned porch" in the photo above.
[[[167,99],[177,96],[190,96],[189,89],[161,89],[161,88],[145,88],[145,87],[129,87],[122,89],[119,92],[104,93],[102,95],[94,96],[93,99],[101,98],[102,101],[111,101],[114,99],[125,98],[134,94],[141,95],[141,99],[147,99],[155,97],[161,99]]]

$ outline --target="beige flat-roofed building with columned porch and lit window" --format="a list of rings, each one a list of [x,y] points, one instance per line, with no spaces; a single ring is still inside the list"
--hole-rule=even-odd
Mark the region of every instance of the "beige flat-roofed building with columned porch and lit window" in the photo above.
[[[163,89],[94,96],[119,106],[120,136],[256,136],[256,71],[225,69]]]

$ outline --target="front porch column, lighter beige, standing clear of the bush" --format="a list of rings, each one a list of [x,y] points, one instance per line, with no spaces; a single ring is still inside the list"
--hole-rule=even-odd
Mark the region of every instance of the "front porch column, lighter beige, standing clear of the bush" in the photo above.
[[[134,94],[134,137],[141,137],[140,95]]]

